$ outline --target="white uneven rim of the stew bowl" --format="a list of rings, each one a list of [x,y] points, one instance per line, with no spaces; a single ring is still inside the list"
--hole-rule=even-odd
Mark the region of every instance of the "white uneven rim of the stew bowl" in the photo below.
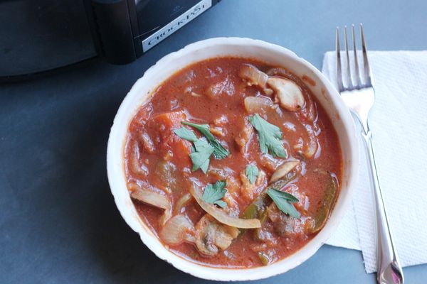
[[[326,95],[327,97],[329,97],[332,105],[334,106],[334,109],[337,111],[337,114],[339,114],[339,119],[342,121],[342,125],[344,126],[345,133],[343,134],[337,133],[339,139],[341,140],[341,137],[340,137],[341,135],[346,136],[344,138],[347,138],[347,143],[349,145],[348,147],[349,148],[348,155],[350,158],[349,159],[349,176],[347,179],[347,186],[345,187],[345,190],[347,193],[344,195],[343,190],[341,188],[339,192],[339,197],[338,197],[339,200],[337,200],[337,202],[335,203],[334,209],[332,211],[330,218],[327,220],[326,226],[313,239],[308,241],[307,244],[305,244],[305,246],[302,246],[301,249],[299,249],[298,251],[295,251],[295,253],[292,253],[292,255],[273,263],[270,266],[262,266],[257,268],[215,268],[211,266],[204,266],[200,263],[196,263],[184,257],[178,256],[172,251],[169,251],[169,249],[164,247],[161,241],[157,239],[157,236],[155,236],[153,232],[148,229],[147,225],[145,225],[144,222],[141,219],[139,219],[139,216],[137,217],[137,219],[135,219],[135,216],[132,216],[132,209],[135,211],[135,207],[130,201],[130,196],[129,196],[129,193],[127,192],[126,185],[125,185],[125,189],[126,189],[126,194],[128,198],[126,199],[126,197],[123,197],[123,192],[122,192],[123,186],[120,185],[120,181],[118,181],[118,178],[116,175],[117,167],[121,167],[122,168],[121,170],[124,171],[124,167],[122,163],[118,165],[118,161],[117,161],[117,155],[120,155],[122,160],[124,159],[122,149],[125,146],[123,143],[125,138],[118,136],[120,132],[119,124],[125,118],[129,118],[127,119],[127,121],[129,122],[130,119],[132,119],[132,117],[135,115],[135,114],[126,113],[125,106],[127,104],[130,104],[130,101],[133,97],[142,96],[142,94],[137,94],[137,89],[139,89],[139,86],[142,83],[144,83],[143,82],[144,78],[149,77],[149,75],[154,73],[158,68],[162,67],[162,65],[167,64],[167,62],[173,62],[177,58],[180,58],[181,55],[189,56],[191,52],[194,52],[197,50],[203,50],[204,48],[212,47],[213,45],[238,45],[243,48],[249,48],[251,46],[252,47],[255,46],[258,48],[265,48],[266,50],[270,50],[272,52],[281,53],[285,56],[288,56],[293,60],[297,61],[298,64],[301,64],[303,65],[303,67],[310,70],[312,72],[312,75],[315,75],[315,77],[317,77],[317,79],[320,80],[320,82],[322,82],[323,87],[325,87],[325,94],[323,95],[324,96]],[[224,56],[227,56],[227,55],[224,53]],[[215,58],[215,57],[211,56],[206,58]],[[256,57],[253,56],[253,58],[256,58]],[[197,61],[199,60],[196,60],[195,62]],[[181,68],[183,67],[179,67],[179,69],[177,70],[181,70]],[[170,75],[172,74],[168,74],[167,77],[165,78],[167,79],[168,77],[170,77]],[[157,87],[159,84],[162,84],[162,82],[157,83],[153,87]],[[315,97],[318,97],[318,95],[315,94]],[[342,141],[340,141],[340,144],[342,146]],[[117,153],[117,147],[120,147],[121,149],[120,153]],[[306,60],[298,57],[292,51],[286,48],[283,48],[280,45],[267,43],[263,40],[254,40],[251,38],[221,37],[221,38],[210,38],[206,40],[200,40],[196,43],[191,43],[189,45],[186,45],[184,48],[181,48],[181,50],[178,50],[173,53],[169,53],[168,55],[165,55],[163,58],[158,60],[154,65],[152,65],[152,67],[149,67],[149,69],[146,72],[144,72],[144,75],[140,77],[139,80],[137,80],[137,82],[135,82],[135,84],[130,89],[130,92],[128,92],[125,99],[123,99],[117,111],[117,114],[115,116],[113,125],[110,130],[108,143],[107,143],[108,182],[110,184],[110,190],[115,199],[115,204],[117,206],[117,209],[119,209],[120,214],[122,215],[123,219],[125,219],[125,222],[134,231],[136,231],[139,234],[140,238],[142,239],[142,242],[157,257],[161,258],[164,261],[167,261],[168,263],[171,263],[172,266],[174,266],[175,268],[178,268],[181,271],[194,275],[198,278],[204,278],[206,280],[228,281],[228,280],[259,280],[263,278],[268,278],[273,275],[285,273],[286,271],[289,271],[290,269],[295,268],[296,266],[299,266],[300,263],[306,261],[312,255],[314,255],[317,252],[317,250],[320,249],[320,246],[325,244],[327,239],[330,238],[334,229],[337,228],[337,226],[339,225],[339,222],[344,217],[345,209],[349,207],[349,204],[352,199],[352,193],[354,192],[354,188],[355,188],[355,182],[357,179],[358,163],[359,163],[359,146],[358,146],[358,139],[356,136],[356,130],[354,126],[354,121],[352,119],[352,115],[350,114],[349,109],[345,106],[344,102],[339,96],[339,93],[332,86],[330,81],[327,80],[327,78],[322,74],[322,72],[320,72],[319,70],[317,70],[316,67],[311,65],[310,62],[307,62]],[[125,200],[123,200],[123,198],[125,198]],[[340,206],[337,207],[337,204],[339,201],[340,201],[340,204],[339,204]],[[135,212],[133,212],[134,215],[135,215]],[[272,266],[274,266],[273,269],[271,269]],[[230,273],[230,271],[236,271],[239,273]]]

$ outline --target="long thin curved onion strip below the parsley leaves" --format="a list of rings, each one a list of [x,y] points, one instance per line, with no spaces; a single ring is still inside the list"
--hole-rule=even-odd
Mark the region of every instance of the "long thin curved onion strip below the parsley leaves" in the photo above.
[[[190,187],[190,193],[193,195],[196,202],[200,205],[204,211],[209,213],[212,217],[214,217],[218,222],[222,224],[226,224],[228,226],[234,226],[236,228],[242,229],[252,229],[252,228],[260,228],[261,223],[258,219],[240,219],[229,216],[223,209],[219,209],[214,207],[214,205],[208,204],[201,199],[201,192],[196,188],[195,185]]]

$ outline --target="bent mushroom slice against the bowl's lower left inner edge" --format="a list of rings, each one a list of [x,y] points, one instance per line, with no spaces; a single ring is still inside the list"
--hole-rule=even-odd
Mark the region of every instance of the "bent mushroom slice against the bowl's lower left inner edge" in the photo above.
[[[148,190],[147,188],[140,187],[136,183],[130,183],[127,188],[131,190],[130,196],[141,202],[147,203],[154,207],[164,209],[164,213],[160,218],[160,224],[164,224],[172,215],[172,200],[167,195],[162,195],[159,192]]]

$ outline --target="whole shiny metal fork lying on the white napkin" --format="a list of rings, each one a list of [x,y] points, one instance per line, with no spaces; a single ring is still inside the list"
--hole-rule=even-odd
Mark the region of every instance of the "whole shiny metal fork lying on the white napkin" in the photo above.
[[[369,111],[374,105],[374,87],[371,83],[371,70],[369,68],[367,46],[364,40],[362,23],[360,24],[360,34],[362,38],[362,77],[359,72],[357,62],[357,48],[354,35],[354,25],[352,25],[353,37],[353,64],[349,58],[349,45],[347,42],[347,26],[344,27],[345,58],[347,59],[347,76],[342,75],[341,50],[339,48],[339,28],[336,33],[337,50],[337,84],[347,107],[352,111],[357,120],[362,124],[362,137],[367,150],[369,160],[369,173],[372,187],[374,189],[374,203],[376,212],[376,280],[378,283],[404,283],[404,273],[402,272],[399,258],[394,247],[393,238],[386,216],[386,209],[379,184],[378,171],[376,170],[374,148],[372,146],[372,134],[369,130]],[[345,59],[344,59],[345,60]],[[352,76],[353,75],[353,76]],[[354,80],[352,79],[354,77]],[[345,83],[344,83],[345,81]],[[344,85],[345,84],[345,85]]]

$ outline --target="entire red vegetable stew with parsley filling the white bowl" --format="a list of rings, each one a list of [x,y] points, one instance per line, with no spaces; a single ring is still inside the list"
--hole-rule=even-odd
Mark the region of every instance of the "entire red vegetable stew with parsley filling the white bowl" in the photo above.
[[[322,229],[341,151],[305,78],[216,58],[176,72],[139,108],[125,146],[127,187],[164,246],[206,266],[251,268]]]

